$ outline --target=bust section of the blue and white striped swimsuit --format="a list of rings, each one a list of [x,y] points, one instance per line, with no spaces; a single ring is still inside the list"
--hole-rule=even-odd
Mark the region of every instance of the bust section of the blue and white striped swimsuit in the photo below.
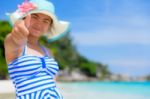
[[[14,60],[8,69],[10,74],[19,76],[33,75],[41,72],[55,75],[59,70],[59,66],[53,58],[25,55]]]

